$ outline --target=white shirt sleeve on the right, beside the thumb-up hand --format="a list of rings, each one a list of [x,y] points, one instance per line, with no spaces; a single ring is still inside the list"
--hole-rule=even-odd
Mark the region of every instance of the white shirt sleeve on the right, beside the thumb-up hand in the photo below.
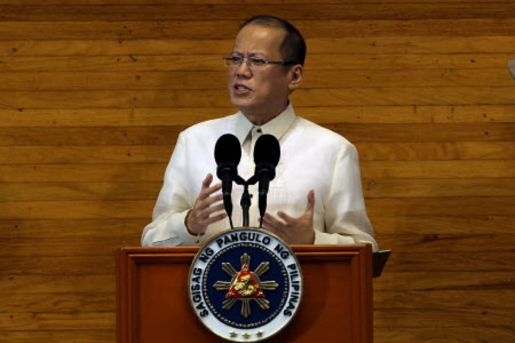
[[[324,211],[325,229],[315,230],[315,244],[370,243],[378,250],[365,209],[357,150],[349,142],[336,158]]]

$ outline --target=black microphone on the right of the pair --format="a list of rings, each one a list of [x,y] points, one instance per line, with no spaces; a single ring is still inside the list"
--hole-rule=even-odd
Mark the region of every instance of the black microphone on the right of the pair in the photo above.
[[[266,196],[270,181],[276,177],[276,167],[281,157],[281,146],[276,137],[262,135],[255,143],[254,164],[256,165],[254,176],[259,180],[258,207],[260,213],[260,227],[263,227],[263,216],[266,211]]]

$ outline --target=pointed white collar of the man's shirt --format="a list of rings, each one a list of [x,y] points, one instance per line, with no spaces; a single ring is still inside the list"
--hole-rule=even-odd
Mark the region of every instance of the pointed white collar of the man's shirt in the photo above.
[[[261,125],[260,128],[263,134],[270,134],[279,140],[286,133],[291,124],[293,124],[294,120],[295,111],[291,102],[288,102],[288,106],[286,106],[286,109],[280,115]],[[252,124],[242,112],[236,114],[236,137],[242,145],[249,131],[252,130],[254,126],[255,125]]]

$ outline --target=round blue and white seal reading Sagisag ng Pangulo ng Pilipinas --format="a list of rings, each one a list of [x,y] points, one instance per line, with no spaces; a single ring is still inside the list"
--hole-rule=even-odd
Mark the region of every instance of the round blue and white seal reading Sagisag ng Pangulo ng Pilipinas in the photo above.
[[[209,330],[231,341],[253,342],[276,334],[296,314],[302,273],[293,251],[277,236],[233,229],[199,250],[188,291]]]

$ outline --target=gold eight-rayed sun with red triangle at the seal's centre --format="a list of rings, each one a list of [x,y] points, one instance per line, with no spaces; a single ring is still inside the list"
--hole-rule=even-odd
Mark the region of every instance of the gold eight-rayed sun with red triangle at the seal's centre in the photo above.
[[[222,263],[222,270],[231,276],[231,281],[216,281],[213,285],[217,291],[227,291],[226,299],[222,302],[222,309],[229,310],[237,301],[242,302],[240,314],[248,318],[250,316],[250,302],[255,301],[262,310],[268,310],[270,303],[264,291],[273,291],[279,284],[276,281],[261,281],[260,277],[269,268],[269,262],[261,264],[251,272],[250,256],[245,252],[240,258],[241,268],[239,272],[231,263]]]

